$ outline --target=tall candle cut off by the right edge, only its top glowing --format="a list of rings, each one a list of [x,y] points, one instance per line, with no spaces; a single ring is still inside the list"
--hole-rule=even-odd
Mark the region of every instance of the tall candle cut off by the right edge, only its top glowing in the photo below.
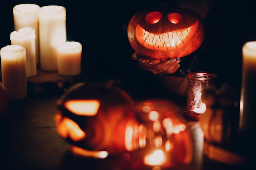
[[[243,45],[242,88],[240,96],[239,130],[256,134],[256,41]]]

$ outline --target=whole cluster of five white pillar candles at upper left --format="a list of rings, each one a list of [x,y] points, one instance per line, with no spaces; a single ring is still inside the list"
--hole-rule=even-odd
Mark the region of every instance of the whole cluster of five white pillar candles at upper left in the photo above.
[[[38,66],[64,76],[81,73],[82,45],[67,42],[65,7],[18,4],[13,7],[13,22],[11,45],[3,47],[0,53],[2,83],[9,99],[27,96],[27,77],[36,76]],[[16,96],[15,92],[22,94]]]

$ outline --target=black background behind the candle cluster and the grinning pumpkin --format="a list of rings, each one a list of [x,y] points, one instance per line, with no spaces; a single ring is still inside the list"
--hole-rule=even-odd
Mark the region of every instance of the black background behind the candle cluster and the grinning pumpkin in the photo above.
[[[178,3],[177,3],[178,2]],[[83,45],[82,68],[103,79],[155,79],[156,75],[140,71],[137,62],[131,59],[134,52],[127,38],[130,18],[139,10],[168,5],[184,7],[207,13],[201,0],[8,0],[0,7],[0,48],[10,44],[13,31],[12,9],[16,4],[34,3],[61,5],[67,11],[67,41],[78,41]],[[223,82],[240,91],[242,46],[256,40],[256,14],[250,0],[209,0],[215,2],[204,16],[206,35],[202,46],[193,53],[200,67],[195,71],[218,74]],[[198,5],[198,6],[197,6]],[[181,69],[186,70],[192,57],[183,57]],[[179,75],[180,76],[180,75]],[[181,75],[182,76],[182,75]]]

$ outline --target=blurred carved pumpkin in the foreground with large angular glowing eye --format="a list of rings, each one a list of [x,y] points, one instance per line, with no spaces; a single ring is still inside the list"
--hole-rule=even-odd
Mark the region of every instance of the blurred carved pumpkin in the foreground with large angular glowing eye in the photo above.
[[[124,137],[117,134],[132,124],[132,105],[131,97],[117,87],[76,84],[57,101],[58,134],[81,149],[122,152]]]

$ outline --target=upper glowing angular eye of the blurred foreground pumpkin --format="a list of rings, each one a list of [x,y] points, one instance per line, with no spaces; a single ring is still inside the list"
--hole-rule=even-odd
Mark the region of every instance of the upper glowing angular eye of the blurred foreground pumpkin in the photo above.
[[[64,106],[76,115],[93,116],[99,109],[100,102],[92,99],[74,99],[65,102]]]

